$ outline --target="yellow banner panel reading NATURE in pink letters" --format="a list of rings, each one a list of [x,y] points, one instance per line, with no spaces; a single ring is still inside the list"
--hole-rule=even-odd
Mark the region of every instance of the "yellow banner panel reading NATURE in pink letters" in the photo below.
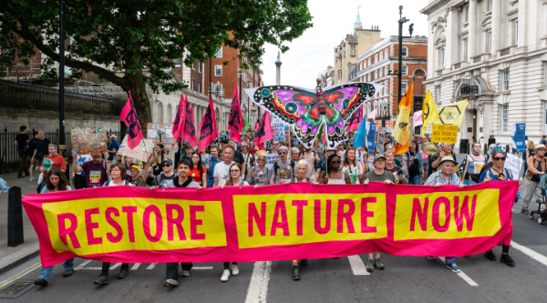
[[[387,237],[385,194],[233,196],[233,208],[240,248]]]

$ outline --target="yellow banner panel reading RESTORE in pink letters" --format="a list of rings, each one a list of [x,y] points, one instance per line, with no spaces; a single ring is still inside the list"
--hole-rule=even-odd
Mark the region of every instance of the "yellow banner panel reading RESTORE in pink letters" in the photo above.
[[[68,250],[65,240],[79,256],[226,246],[221,201],[117,197],[66,202],[43,205],[59,253]],[[60,239],[59,234],[67,236]]]

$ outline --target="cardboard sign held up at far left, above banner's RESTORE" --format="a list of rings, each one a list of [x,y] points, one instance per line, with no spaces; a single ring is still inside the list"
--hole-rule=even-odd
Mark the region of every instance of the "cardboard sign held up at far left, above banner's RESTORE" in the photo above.
[[[107,130],[103,127],[72,127],[72,150],[78,155],[104,154],[107,151]]]

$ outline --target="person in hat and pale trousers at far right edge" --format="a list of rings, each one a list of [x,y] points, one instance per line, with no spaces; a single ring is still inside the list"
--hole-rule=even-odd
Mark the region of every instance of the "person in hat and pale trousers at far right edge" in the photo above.
[[[542,197],[542,187],[540,186],[540,180],[547,171],[547,158],[545,157],[545,151],[547,147],[540,144],[535,146],[535,155],[528,158],[526,161],[528,168],[522,178],[521,187],[521,213],[524,215],[530,214],[528,205],[533,197],[534,192],[537,197]]]

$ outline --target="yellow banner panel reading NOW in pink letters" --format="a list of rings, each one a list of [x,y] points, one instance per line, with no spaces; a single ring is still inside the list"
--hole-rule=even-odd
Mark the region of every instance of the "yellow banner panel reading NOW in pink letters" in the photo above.
[[[501,229],[500,191],[397,195],[394,239],[491,237]]]

